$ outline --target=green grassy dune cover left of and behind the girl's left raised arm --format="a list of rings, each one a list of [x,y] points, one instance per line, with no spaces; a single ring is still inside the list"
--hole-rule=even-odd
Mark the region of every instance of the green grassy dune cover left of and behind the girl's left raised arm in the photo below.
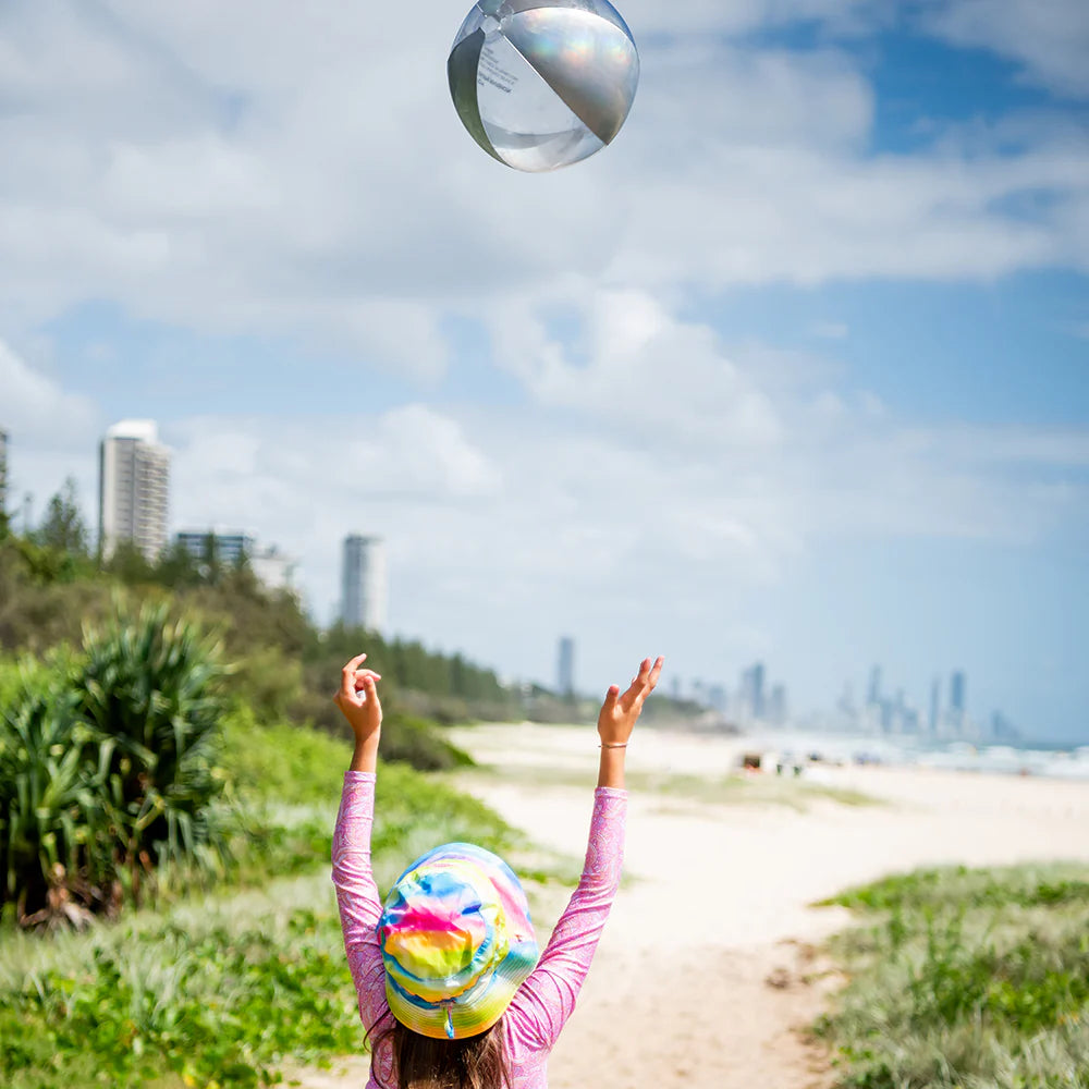
[[[235,869],[117,926],[53,939],[0,930],[0,1085],[247,1086],[287,1061],[363,1050],[328,860],[351,746],[293,726],[227,725],[244,813]],[[474,798],[403,764],[380,769],[380,886],[445,840],[525,851]]]

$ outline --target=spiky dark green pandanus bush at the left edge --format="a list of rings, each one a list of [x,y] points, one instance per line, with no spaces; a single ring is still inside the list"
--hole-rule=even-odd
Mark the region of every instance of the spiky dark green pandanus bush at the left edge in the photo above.
[[[222,674],[192,624],[148,607],[4,682],[0,907],[82,921],[138,900],[164,860],[216,865]]]

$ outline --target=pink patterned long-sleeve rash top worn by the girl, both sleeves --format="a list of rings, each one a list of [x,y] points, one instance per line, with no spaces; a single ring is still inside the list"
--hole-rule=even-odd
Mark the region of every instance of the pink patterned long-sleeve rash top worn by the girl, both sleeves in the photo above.
[[[609,916],[624,856],[627,792],[599,786],[583,876],[533,974],[518,988],[501,1021],[511,1089],[547,1089],[546,1065],[560,1030],[575,1008],[583,980]],[[344,776],[333,832],[333,884],[344,930],[344,947],[366,1028],[391,1024],[386,1001],[386,968],[378,944],[382,905],[370,870],[370,828],[375,815],[375,775]],[[395,1085],[389,1048],[371,1061],[367,1089]]]

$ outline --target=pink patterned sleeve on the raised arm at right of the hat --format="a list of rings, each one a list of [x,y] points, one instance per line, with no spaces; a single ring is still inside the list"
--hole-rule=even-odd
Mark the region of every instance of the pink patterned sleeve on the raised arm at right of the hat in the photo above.
[[[578,888],[560,916],[540,962],[507,1010],[510,1031],[525,1047],[551,1048],[574,1012],[620,888],[626,813],[626,791],[599,786],[594,792],[590,842]]]

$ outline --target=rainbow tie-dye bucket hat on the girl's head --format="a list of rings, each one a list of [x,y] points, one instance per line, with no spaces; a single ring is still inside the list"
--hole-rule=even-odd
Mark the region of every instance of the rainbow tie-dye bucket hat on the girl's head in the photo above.
[[[540,956],[522,883],[472,843],[436,847],[401,874],[378,941],[393,1016],[439,1040],[491,1028]]]

